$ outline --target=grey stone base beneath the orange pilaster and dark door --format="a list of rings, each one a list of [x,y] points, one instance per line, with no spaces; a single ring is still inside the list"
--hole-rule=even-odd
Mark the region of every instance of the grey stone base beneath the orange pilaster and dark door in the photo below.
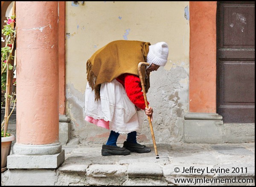
[[[255,124],[223,123],[217,113],[184,115],[184,141],[199,144],[246,143],[255,140]]]

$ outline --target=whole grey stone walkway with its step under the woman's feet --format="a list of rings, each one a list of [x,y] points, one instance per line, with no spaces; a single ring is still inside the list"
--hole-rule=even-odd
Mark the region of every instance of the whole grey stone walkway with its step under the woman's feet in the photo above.
[[[67,145],[56,170],[7,170],[3,185],[254,185],[254,143],[157,144],[149,153],[102,156],[99,144]],[[118,144],[122,147],[122,144]],[[190,181],[189,181],[190,180]]]

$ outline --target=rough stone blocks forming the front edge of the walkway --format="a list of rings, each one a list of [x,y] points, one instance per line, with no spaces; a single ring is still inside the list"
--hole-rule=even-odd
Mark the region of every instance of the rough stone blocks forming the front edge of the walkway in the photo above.
[[[70,185],[80,178],[84,181],[83,185],[118,185],[118,186],[167,186],[167,185],[182,185],[195,184],[209,185],[222,184],[229,185],[237,183],[240,180],[252,180],[254,183],[254,170],[250,168],[246,174],[241,173],[175,173],[175,168],[180,165],[167,164],[162,167],[159,164],[148,163],[132,163],[132,164],[68,164],[58,169],[58,185]],[[186,166],[183,166],[186,169]],[[207,166],[199,166],[196,169],[207,170]],[[195,168],[194,168],[195,169]],[[218,170],[218,168],[215,168]],[[208,171],[210,172],[210,170]],[[80,177],[79,177],[80,176]],[[69,181],[64,184],[64,180]],[[182,182],[185,181],[185,182]],[[189,181],[190,180],[190,181]],[[226,180],[226,181],[225,181]],[[233,180],[233,182],[232,182]],[[212,182],[211,182],[212,181]],[[236,181],[236,182],[234,182]],[[243,183],[241,185],[248,185]]]

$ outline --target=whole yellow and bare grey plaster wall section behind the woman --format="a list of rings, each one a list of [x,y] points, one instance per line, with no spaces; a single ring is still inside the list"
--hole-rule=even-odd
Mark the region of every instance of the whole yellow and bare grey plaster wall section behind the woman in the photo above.
[[[109,130],[84,121],[84,92],[87,59],[113,40],[168,43],[168,62],[151,72],[147,98],[154,109],[156,142],[182,141],[183,115],[189,109],[189,1],[66,3],[66,113],[71,138],[81,144],[104,144],[108,139]],[[125,139],[120,135],[117,144]],[[152,144],[146,116],[137,139]]]

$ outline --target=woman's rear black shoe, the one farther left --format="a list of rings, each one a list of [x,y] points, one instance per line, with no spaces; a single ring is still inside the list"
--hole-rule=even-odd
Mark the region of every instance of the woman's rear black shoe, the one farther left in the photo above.
[[[118,147],[113,145],[102,145],[102,156],[111,156],[111,155],[130,155],[131,152],[125,147]]]

